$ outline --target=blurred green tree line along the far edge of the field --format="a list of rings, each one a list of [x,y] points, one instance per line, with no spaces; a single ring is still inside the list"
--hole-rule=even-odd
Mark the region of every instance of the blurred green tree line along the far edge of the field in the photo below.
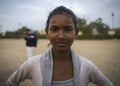
[[[115,34],[108,34],[110,27],[103,23],[102,18],[98,18],[95,21],[87,23],[86,19],[77,18],[77,28],[81,35],[78,35],[77,39],[120,39],[120,28],[115,31]],[[0,38],[23,38],[25,32],[29,28],[23,26],[16,31],[6,31],[5,35],[0,34]],[[46,38],[45,34],[40,34],[40,31],[33,31],[38,38]]]

